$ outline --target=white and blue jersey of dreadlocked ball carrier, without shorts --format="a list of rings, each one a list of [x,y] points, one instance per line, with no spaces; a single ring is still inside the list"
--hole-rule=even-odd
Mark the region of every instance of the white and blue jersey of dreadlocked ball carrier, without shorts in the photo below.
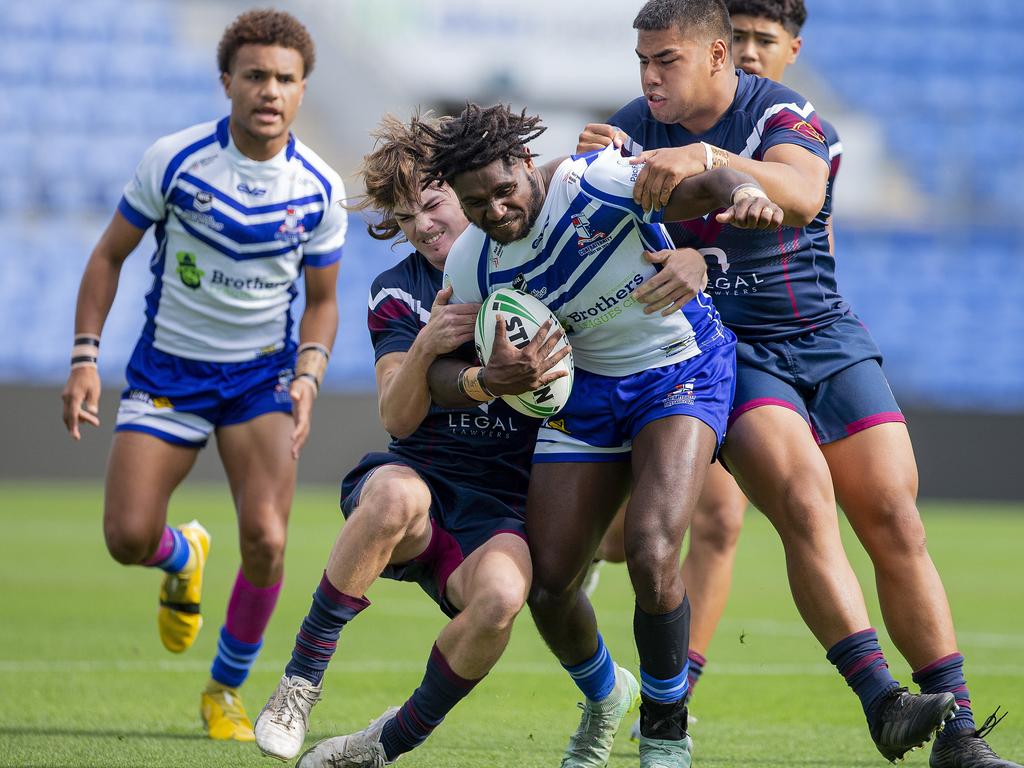
[[[643,252],[673,247],[657,223],[662,212],[633,201],[642,167],[614,146],[567,158],[522,240],[502,245],[468,227],[445,262],[452,302],[480,302],[509,286],[530,293],[565,328],[577,367],[604,376],[668,366],[725,343],[729,335],[703,294],[668,317],[645,314],[631,297],[656,271]]]

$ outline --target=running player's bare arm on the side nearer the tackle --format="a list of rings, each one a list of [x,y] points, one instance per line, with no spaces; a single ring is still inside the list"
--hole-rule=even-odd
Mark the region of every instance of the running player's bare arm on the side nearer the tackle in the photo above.
[[[306,308],[299,324],[299,353],[295,378],[289,394],[292,397],[292,458],[298,459],[309,437],[309,417],[313,400],[327,370],[328,357],[338,333],[338,262],[325,267],[307,268]]]

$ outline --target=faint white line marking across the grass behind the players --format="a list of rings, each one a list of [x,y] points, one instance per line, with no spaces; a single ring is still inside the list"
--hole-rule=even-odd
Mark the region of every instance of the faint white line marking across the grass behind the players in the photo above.
[[[332,673],[348,675],[375,673],[421,673],[422,660],[346,660],[337,659],[331,663]],[[39,674],[57,673],[71,674],[76,672],[205,672],[210,665],[205,662],[143,662],[143,660],[108,660],[108,659],[0,659],[0,674]],[[499,662],[494,674],[510,675],[551,675],[563,676],[565,673],[555,663],[554,658],[543,662]],[[730,662],[713,662],[708,668],[709,675],[723,677],[835,677],[836,670],[830,666],[811,662],[772,662],[766,664],[736,664]],[[971,676],[989,676],[1004,678],[1024,678],[1024,666],[971,664],[968,669]]]

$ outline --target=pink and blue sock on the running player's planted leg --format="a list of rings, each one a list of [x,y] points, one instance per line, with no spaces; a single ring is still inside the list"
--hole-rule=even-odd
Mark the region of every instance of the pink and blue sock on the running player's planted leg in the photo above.
[[[280,594],[281,582],[270,587],[256,587],[239,569],[227,601],[227,620],[220,628],[210,677],[232,688],[245,682],[263,646],[263,632],[270,623]]]

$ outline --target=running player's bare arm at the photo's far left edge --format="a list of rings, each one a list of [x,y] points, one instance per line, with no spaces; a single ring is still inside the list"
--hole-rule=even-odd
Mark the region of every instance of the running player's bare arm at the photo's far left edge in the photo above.
[[[97,351],[99,335],[118,291],[121,266],[141,242],[143,234],[144,229],[131,224],[120,213],[115,213],[85,266],[75,307],[75,338],[94,338]],[[72,365],[60,399],[63,400],[65,426],[74,439],[80,440],[81,422],[99,426],[99,374],[95,361],[91,365],[85,361]]]

